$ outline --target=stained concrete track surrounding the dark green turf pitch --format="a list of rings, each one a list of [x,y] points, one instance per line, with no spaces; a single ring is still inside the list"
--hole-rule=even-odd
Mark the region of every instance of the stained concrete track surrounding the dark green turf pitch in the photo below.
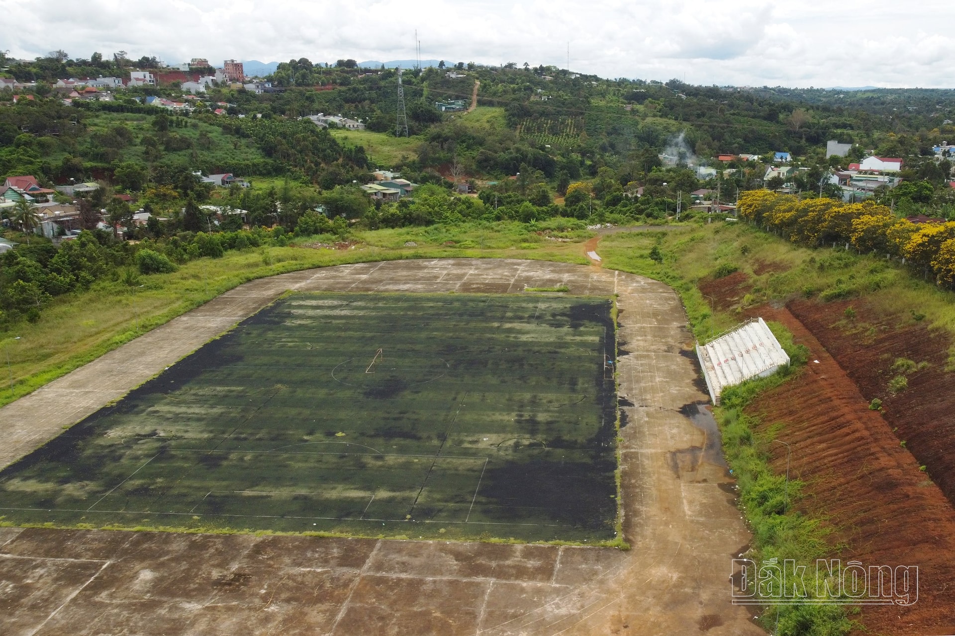
[[[340,265],[246,283],[0,409],[0,467],[287,290],[619,294],[627,552],[606,548],[0,528],[0,633],[762,634],[730,604],[750,541],[679,297],[516,259]],[[632,405],[626,405],[632,404]]]

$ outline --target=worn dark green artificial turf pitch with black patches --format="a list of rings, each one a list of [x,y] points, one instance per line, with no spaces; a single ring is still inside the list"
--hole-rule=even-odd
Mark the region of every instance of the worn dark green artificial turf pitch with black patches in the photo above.
[[[612,301],[295,294],[0,472],[9,523],[615,538]]]

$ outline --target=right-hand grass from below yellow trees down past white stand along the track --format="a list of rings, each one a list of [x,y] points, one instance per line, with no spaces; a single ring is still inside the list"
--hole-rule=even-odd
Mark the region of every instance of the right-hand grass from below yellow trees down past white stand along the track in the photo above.
[[[663,263],[649,258],[654,245],[663,252]],[[607,267],[654,277],[673,286],[683,297],[694,335],[701,340],[732,327],[743,307],[781,303],[794,297],[818,297],[822,301],[865,297],[886,314],[899,316],[901,322],[915,312],[923,314],[931,328],[955,334],[952,295],[911,277],[901,266],[843,250],[797,247],[746,225],[607,236],[600,253]],[[698,285],[704,278],[719,277],[735,268],[750,277],[753,289],[741,299],[738,309],[713,312],[711,300],[703,296]],[[787,505],[798,502],[803,484],[790,482],[787,488],[784,476],[775,474],[770,466],[770,446],[779,431],[774,427],[773,437],[755,434],[758,421],[744,412],[758,394],[800,373],[805,362],[805,349],[794,346],[792,335],[782,325],[771,327],[795,364],[785,373],[725,391],[715,416],[724,452],[738,478],[741,509],[753,530],[753,554],[747,556],[757,562],[775,557],[779,563],[796,559],[801,564],[812,564],[834,551],[828,531],[822,520]],[[840,634],[852,626],[838,606],[783,605],[778,616],[775,609],[769,608],[762,622],[772,630],[778,620],[776,633]],[[812,630],[805,631],[807,626]]]

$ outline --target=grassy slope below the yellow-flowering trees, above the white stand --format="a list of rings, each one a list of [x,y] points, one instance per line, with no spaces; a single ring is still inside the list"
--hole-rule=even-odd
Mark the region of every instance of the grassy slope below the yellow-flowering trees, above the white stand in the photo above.
[[[649,258],[654,245],[660,246],[663,263]],[[732,327],[745,307],[796,297],[865,297],[886,315],[900,317],[900,323],[923,320],[955,337],[955,296],[911,275],[898,262],[841,247],[798,247],[745,224],[606,236],[601,256],[606,267],[657,278],[677,289],[698,339]],[[714,315],[697,285],[716,277],[721,268],[726,271],[726,263],[747,274],[753,290],[735,311]],[[955,351],[949,353],[955,364]]]

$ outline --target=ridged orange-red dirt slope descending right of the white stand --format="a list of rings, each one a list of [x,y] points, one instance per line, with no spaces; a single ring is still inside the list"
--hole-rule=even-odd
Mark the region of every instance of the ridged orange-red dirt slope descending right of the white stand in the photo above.
[[[813,314],[809,304],[800,309]],[[857,620],[868,633],[955,633],[955,509],[802,322],[787,309],[758,313],[786,324],[812,352],[798,378],[750,407],[763,417],[760,432],[785,422],[775,437],[793,446],[794,476],[809,495],[802,505],[829,520],[831,544],[847,545],[843,563],[919,566],[915,605],[864,606]],[[785,449],[774,452],[784,471]]]

